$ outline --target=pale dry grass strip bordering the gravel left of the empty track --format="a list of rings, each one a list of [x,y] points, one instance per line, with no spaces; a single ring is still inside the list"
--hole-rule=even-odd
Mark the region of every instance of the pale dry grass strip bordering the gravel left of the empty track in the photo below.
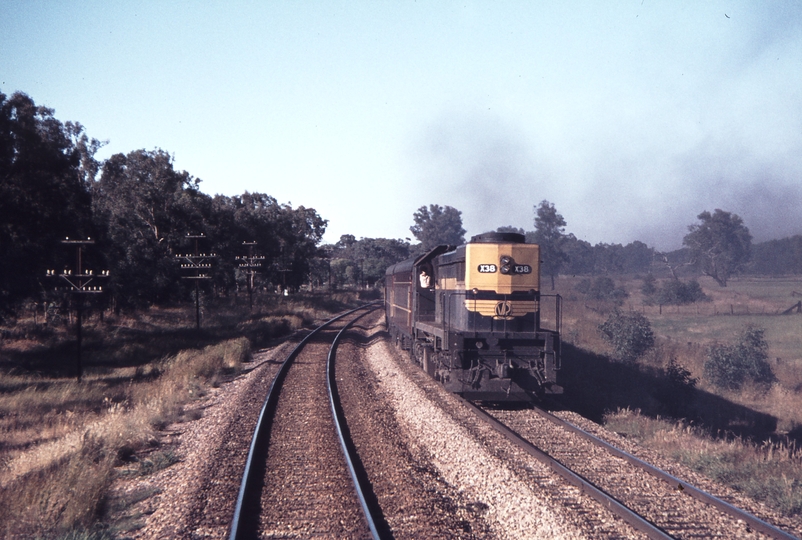
[[[245,338],[182,351],[160,362],[154,370],[158,376],[152,380],[118,389],[125,401],[114,403],[105,397],[106,407],[100,412],[80,415],[80,419],[74,418],[76,414],[64,415],[74,420],[57,423],[59,433],[7,454],[0,476],[0,521],[5,535],[50,534],[90,526],[119,458],[157,444],[159,428],[178,420],[183,406],[204,388],[239,370],[249,353]],[[55,392],[42,392],[41,397],[58,407],[74,403],[77,394],[89,390],[83,398],[92,401],[97,382],[58,385]],[[33,401],[30,392],[22,394],[21,401]]]

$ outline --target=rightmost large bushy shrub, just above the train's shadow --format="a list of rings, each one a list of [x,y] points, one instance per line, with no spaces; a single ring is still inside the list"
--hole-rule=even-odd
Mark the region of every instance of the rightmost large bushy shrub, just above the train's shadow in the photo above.
[[[747,325],[734,345],[711,345],[705,358],[705,377],[719,388],[740,390],[744,383],[770,386],[775,380],[767,361],[765,330]]]

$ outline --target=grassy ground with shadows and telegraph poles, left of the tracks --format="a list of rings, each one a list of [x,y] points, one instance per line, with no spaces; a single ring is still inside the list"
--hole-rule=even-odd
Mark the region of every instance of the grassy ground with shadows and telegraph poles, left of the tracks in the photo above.
[[[22,317],[0,328],[0,537],[116,537],[114,477],[178,459],[161,448],[160,429],[188,418],[187,405],[236,375],[252,349],[357,302],[260,300],[254,314],[241,299],[210,302],[200,332],[192,306],[95,313],[84,321],[80,382],[72,327]]]

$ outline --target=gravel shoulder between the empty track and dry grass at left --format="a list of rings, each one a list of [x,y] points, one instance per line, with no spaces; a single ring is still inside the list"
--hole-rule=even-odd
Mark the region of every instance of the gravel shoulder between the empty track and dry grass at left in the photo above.
[[[253,427],[294,344],[254,354],[247,370],[193,402],[199,419],[168,426],[159,450],[179,462],[147,477],[121,476],[109,506],[126,538],[226,538]],[[243,427],[247,426],[247,427]]]

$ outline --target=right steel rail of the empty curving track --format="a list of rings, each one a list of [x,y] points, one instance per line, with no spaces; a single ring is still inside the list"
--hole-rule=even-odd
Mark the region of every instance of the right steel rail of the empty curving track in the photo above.
[[[326,360],[326,389],[329,393],[329,404],[331,405],[331,414],[334,417],[334,425],[337,428],[337,436],[340,438],[340,445],[343,448],[343,455],[345,456],[345,461],[348,463],[348,470],[351,473],[351,479],[354,482],[354,488],[356,488],[356,493],[359,497],[359,503],[362,505],[362,513],[365,515],[365,519],[368,522],[368,527],[370,528],[370,533],[373,535],[374,540],[382,540],[383,538],[391,538],[391,536],[386,534],[382,535],[376,525],[377,522],[384,521],[384,516],[382,515],[378,501],[372,497],[371,500],[368,501],[366,496],[366,492],[368,492],[370,488],[370,481],[368,480],[367,475],[362,468],[359,455],[357,454],[356,448],[354,448],[354,445],[351,441],[348,424],[345,420],[345,414],[343,413],[342,406],[340,404],[340,397],[337,392],[337,381],[334,378],[334,361],[337,357],[337,345],[340,342],[340,338],[342,338],[345,332],[349,330],[354,323],[356,323],[362,317],[372,313],[376,309],[379,309],[379,306],[376,306],[373,308],[373,310],[368,311],[367,313],[364,313],[353,321],[349,322],[337,333],[337,336],[334,338],[334,341],[331,344],[329,356]]]

